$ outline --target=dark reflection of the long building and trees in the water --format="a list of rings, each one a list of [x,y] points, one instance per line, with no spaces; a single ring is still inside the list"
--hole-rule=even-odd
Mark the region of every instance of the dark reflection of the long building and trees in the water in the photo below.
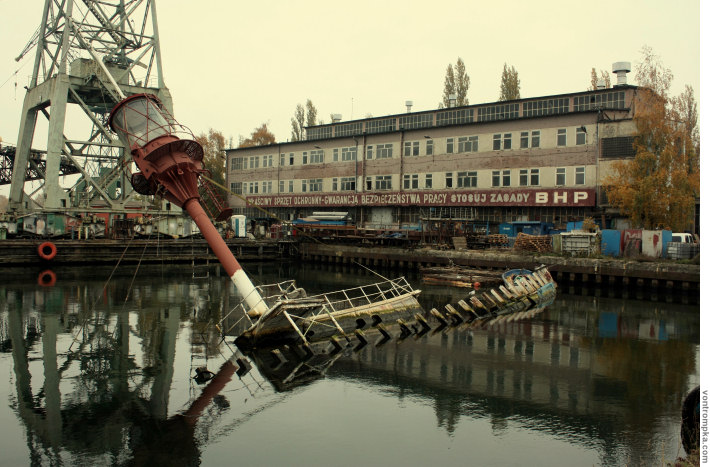
[[[654,316],[666,314],[667,328],[676,334],[666,342],[604,338],[599,316],[614,309],[625,311],[619,319],[628,329],[643,329]],[[598,442],[606,446],[604,456],[612,463],[620,459],[613,451],[615,437],[628,430],[642,439],[656,436],[659,412],[649,411],[650,405],[662,405],[664,414],[679,414],[696,365],[696,345],[684,341],[699,342],[692,332],[698,317],[689,307],[658,305],[651,310],[643,302],[563,299],[547,315],[483,329],[464,324],[397,346],[367,346],[340,358],[328,374],[367,378],[430,398],[439,424],[450,432],[461,417],[490,417],[493,430],[513,419],[572,442]],[[669,398],[671,394],[675,396]],[[634,459],[643,461],[649,452],[626,455],[636,463]]]

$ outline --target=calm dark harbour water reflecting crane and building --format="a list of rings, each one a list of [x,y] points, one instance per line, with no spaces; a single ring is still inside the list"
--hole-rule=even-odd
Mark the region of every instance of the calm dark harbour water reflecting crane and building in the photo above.
[[[295,278],[309,292],[376,280],[245,267],[257,283]],[[563,288],[527,321],[307,365],[248,356],[240,377],[233,338],[214,327],[238,301],[217,268],[56,269],[54,287],[36,285],[39,272],[0,273],[0,465],[665,465],[684,455],[697,305]],[[420,287],[425,308],[466,294]],[[198,384],[198,367],[219,377]]]

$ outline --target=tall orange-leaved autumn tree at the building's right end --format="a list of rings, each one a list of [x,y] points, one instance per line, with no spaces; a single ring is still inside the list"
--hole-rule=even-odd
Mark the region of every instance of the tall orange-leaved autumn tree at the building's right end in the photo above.
[[[688,230],[700,193],[697,105],[692,88],[677,98],[673,80],[650,47],[636,69],[635,156],[613,165],[604,180],[609,203],[639,227]]]

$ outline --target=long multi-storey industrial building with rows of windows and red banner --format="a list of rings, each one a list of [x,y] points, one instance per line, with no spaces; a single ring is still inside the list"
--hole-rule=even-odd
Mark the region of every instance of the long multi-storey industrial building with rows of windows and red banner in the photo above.
[[[310,127],[305,141],[228,150],[228,184],[283,219],[580,220],[600,214],[611,161],[633,155],[635,93],[622,84]],[[236,196],[230,205],[245,207]]]

